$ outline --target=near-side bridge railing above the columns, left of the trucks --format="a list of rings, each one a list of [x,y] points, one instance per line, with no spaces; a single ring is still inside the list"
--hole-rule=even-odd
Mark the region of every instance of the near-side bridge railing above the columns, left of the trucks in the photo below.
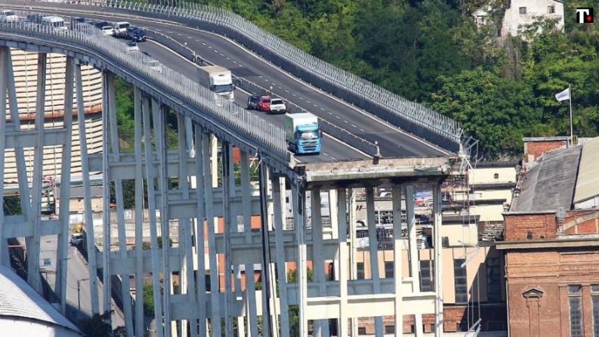
[[[281,128],[245,111],[234,102],[215,102],[208,88],[141,52],[127,52],[125,43],[104,36],[99,29],[89,26],[79,30],[58,30],[31,22],[5,22],[0,24],[1,32],[32,36],[40,39],[42,44],[52,39],[71,49],[87,47],[100,52],[109,56],[111,61],[125,65],[128,70],[142,75],[151,83],[160,84],[161,88],[171,92],[176,101],[199,107],[200,111],[208,115],[201,117],[221,120],[231,127],[233,132],[247,134],[251,139],[260,141],[282,157],[286,157],[285,132]]]

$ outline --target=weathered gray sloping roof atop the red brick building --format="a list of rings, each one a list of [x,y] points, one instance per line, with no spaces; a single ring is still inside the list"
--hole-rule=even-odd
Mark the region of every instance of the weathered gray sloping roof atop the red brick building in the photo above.
[[[522,181],[522,191],[511,211],[557,210],[572,205],[582,146],[546,152],[534,163]]]

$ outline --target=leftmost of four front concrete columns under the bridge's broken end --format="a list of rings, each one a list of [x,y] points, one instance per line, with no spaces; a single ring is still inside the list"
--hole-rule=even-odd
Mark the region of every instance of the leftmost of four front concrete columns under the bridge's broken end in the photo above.
[[[308,280],[306,279],[306,241],[304,238],[305,227],[305,201],[304,191],[300,191],[297,180],[291,182],[291,199],[293,202],[293,220],[295,242],[297,242],[297,290],[299,293],[299,337],[308,336],[308,320],[306,320],[306,301],[308,297]]]

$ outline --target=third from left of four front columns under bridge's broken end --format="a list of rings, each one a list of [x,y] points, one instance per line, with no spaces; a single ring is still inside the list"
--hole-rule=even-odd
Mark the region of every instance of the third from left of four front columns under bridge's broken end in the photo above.
[[[403,240],[401,239],[401,187],[394,185],[393,198],[393,260],[395,285],[395,336],[403,336]],[[407,200],[406,200],[407,202]]]

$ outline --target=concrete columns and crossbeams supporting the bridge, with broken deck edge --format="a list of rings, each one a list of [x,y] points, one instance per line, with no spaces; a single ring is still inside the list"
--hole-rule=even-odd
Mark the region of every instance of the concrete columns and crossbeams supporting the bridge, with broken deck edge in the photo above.
[[[103,175],[101,226],[93,226],[90,182],[83,180],[91,308],[100,313],[110,310],[111,297],[125,299],[127,336],[143,336],[146,330],[143,297],[132,298],[129,289],[132,280],[131,288],[141,294],[144,277],[152,279],[154,318],[165,322],[157,324],[157,336],[221,336],[223,332],[258,336],[258,329],[263,336],[268,331],[273,336],[308,336],[309,321],[321,336],[332,334],[329,322],[336,326],[338,336],[355,336],[357,318],[365,315],[375,317],[378,336],[383,334],[382,317],[394,316],[400,335],[403,315],[414,315],[414,325],[421,332],[421,315],[430,313],[435,314],[437,334],[442,334],[442,282],[434,282],[433,292],[420,289],[413,194],[414,185],[433,190],[433,246],[439,261],[433,274],[440,279],[440,183],[449,175],[453,158],[368,159],[281,170],[267,158],[254,158],[256,152],[248,148],[241,148],[240,157],[234,158],[231,141],[180,113],[176,146],[169,144],[169,148],[164,127],[169,107],[138,87],[134,89],[134,150],[124,152],[118,136],[114,74],[107,71],[102,72],[104,147],[101,154],[91,155],[84,132],[77,137],[72,132],[73,123],[85,130],[79,60],[67,56],[65,68],[65,97],[76,94],[77,100],[65,100],[64,111],[74,113],[64,113],[63,126],[54,129],[44,126],[40,113],[45,104],[45,64],[46,54],[40,53],[36,128],[22,132],[10,49],[0,48],[0,95],[8,96],[8,106],[0,100],[0,113],[10,117],[9,123],[0,118],[0,153],[9,148],[15,151],[20,196],[31,195],[31,201],[21,198],[22,215],[0,212],[0,261],[8,265],[6,239],[24,238],[28,282],[41,292],[40,240],[58,235],[56,279],[60,281],[54,292],[63,313],[68,237],[73,230],[68,202],[70,152],[79,143],[83,176],[98,171]],[[44,219],[40,214],[43,149],[49,146],[63,147],[58,219]],[[34,164],[29,173],[24,151],[32,148]],[[1,156],[2,181],[4,168]],[[133,234],[125,221],[124,194],[131,191],[124,189],[130,181],[134,181]],[[380,185],[391,187],[395,274],[383,277],[378,247],[371,244],[366,265],[372,277],[361,279],[356,267],[354,201],[357,194],[365,195],[368,240],[376,242],[375,187]],[[0,184],[0,194],[3,188]],[[110,216],[113,212],[116,217]],[[407,238],[402,237],[403,228]],[[144,245],[146,230],[149,245]],[[160,238],[165,244],[159,244]],[[173,245],[166,244],[172,238]],[[408,256],[407,267],[402,265],[402,254]],[[98,269],[104,271],[102,279],[97,277]],[[111,294],[111,276],[125,283],[120,294]],[[173,279],[178,287],[173,286]],[[102,294],[98,281],[104,284]],[[104,308],[100,308],[100,297]],[[299,315],[295,332],[290,332],[290,311],[296,311],[291,306],[297,306]]]

